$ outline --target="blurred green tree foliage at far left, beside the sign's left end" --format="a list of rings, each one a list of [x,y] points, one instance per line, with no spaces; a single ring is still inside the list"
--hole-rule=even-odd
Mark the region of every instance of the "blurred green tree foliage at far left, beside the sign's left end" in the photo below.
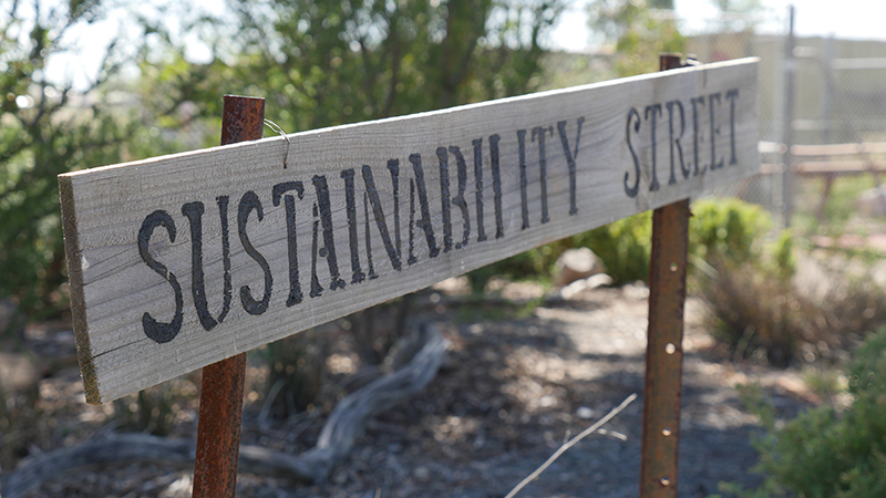
[[[100,2],[43,3],[0,12],[0,295],[38,315],[65,301],[55,176],[119,160],[135,129],[95,93],[119,69],[110,55],[85,92],[47,76],[49,59],[72,49],[65,34],[102,19]]]

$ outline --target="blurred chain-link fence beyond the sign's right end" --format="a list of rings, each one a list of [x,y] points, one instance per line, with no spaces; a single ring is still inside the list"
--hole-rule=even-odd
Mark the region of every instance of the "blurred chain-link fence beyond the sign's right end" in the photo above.
[[[782,220],[792,211],[792,224],[805,228],[851,221],[859,211],[886,216],[886,194],[872,190],[885,167],[886,42],[793,38],[786,12],[764,24],[730,31],[712,21],[688,38],[688,52],[702,62],[760,58],[761,174],[717,195],[759,204]]]

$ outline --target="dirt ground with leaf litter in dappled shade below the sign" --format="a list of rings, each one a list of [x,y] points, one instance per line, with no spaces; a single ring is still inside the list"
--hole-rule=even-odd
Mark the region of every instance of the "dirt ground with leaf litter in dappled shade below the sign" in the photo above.
[[[445,307],[424,294],[422,319],[439,321],[453,346],[445,366],[415,398],[370,424],[351,456],[322,486],[297,487],[281,479],[243,475],[238,496],[255,497],[502,497],[540,465],[569,435],[605,415],[631,393],[642,394],[646,289],[597,289],[583,300],[523,312],[488,304]],[[688,304],[684,395],[680,445],[681,497],[705,497],[728,480],[752,485],[755,417],[739,400],[736,384],[761,382],[781,413],[806,404],[793,371],[738,367],[712,353],[700,329],[699,304]],[[183,381],[184,382],[184,381]],[[80,436],[102,429],[107,407],[86,407],[71,370],[44,380],[41,394],[69,408],[59,423]],[[54,393],[54,394],[53,394]],[[73,407],[73,408],[71,408]],[[194,405],[182,406],[174,434],[195,434]],[[260,401],[247,402],[246,444],[301,452],[322,417],[295,440],[292,424],[257,427]],[[640,459],[642,401],[567,452],[519,496],[635,497]],[[55,412],[50,412],[55,413]],[[106,415],[105,415],[106,416]],[[65,418],[66,417],[66,418]],[[72,418],[73,417],[73,418]],[[76,422],[72,422],[76,421]],[[187,473],[128,466],[65,477],[44,486],[48,496],[189,496]]]

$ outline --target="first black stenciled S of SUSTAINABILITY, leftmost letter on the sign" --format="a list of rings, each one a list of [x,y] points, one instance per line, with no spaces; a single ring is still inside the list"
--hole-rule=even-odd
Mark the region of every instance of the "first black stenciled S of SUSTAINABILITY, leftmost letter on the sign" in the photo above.
[[[142,328],[148,339],[163,344],[175,339],[175,336],[178,335],[178,331],[182,330],[184,299],[182,297],[182,286],[178,284],[178,279],[176,279],[175,274],[167,270],[162,262],[154,259],[147,250],[151,235],[157,227],[165,228],[166,232],[169,234],[169,243],[175,242],[175,221],[173,221],[173,217],[164,210],[156,210],[147,215],[145,220],[142,221],[142,228],[138,230],[138,255],[142,256],[142,260],[147,263],[148,268],[156,271],[157,274],[163,277],[163,279],[172,286],[173,292],[175,293],[175,314],[173,314],[172,322],[163,323],[157,322],[150,313],[145,312],[145,314],[142,315]]]

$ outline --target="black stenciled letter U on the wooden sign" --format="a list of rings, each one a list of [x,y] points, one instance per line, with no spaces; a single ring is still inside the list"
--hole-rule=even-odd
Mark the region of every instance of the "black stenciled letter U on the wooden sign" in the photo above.
[[[222,301],[222,312],[218,320],[209,314],[209,304],[206,301],[206,283],[203,273],[203,203],[195,201],[182,206],[182,214],[190,222],[190,279],[192,294],[194,295],[194,307],[197,309],[197,317],[200,325],[207,331],[215,329],[216,325],[225,321],[225,317],[230,310],[230,242],[228,239],[228,196],[220,196],[218,203],[218,215],[222,221],[222,260],[225,269],[225,287]]]

